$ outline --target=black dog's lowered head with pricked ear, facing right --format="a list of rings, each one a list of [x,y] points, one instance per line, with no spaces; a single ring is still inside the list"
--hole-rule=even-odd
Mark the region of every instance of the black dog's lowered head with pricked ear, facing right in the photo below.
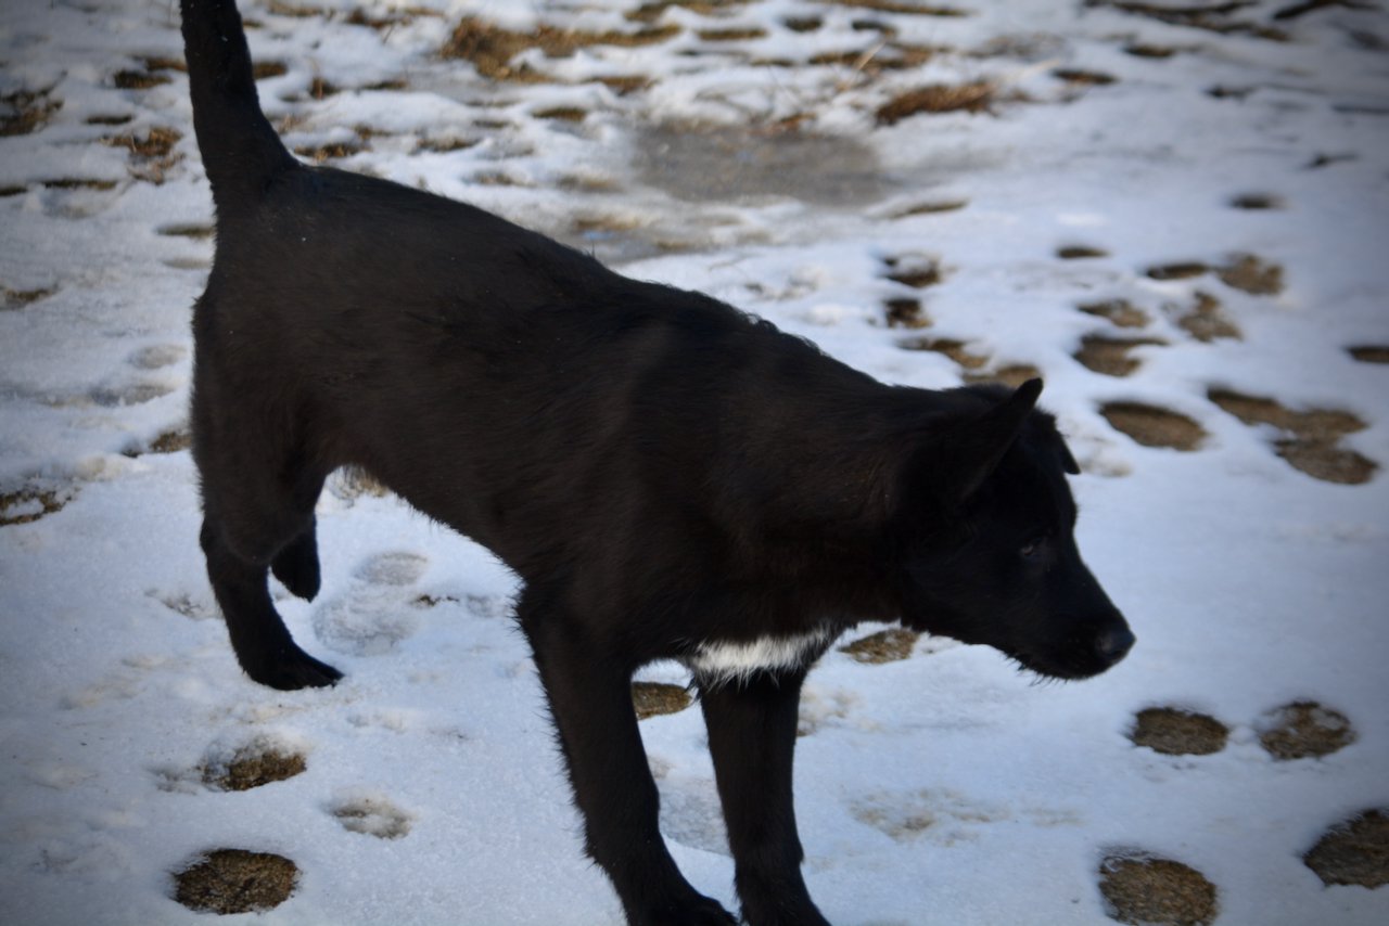
[[[899,534],[907,626],[983,643],[1058,679],[1104,672],[1133,646],[1081,561],[1067,473],[1079,468],[1042,380],[972,386],[903,473]]]

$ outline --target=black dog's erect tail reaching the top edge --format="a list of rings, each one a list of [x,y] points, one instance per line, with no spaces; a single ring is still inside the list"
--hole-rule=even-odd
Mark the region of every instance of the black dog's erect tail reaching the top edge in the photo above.
[[[193,129],[218,211],[254,199],[299,161],[260,108],[235,0],[179,0]]]

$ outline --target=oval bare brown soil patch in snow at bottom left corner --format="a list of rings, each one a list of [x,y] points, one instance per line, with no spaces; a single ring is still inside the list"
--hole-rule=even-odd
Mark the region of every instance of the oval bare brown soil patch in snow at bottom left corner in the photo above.
[[[174,900],[213,914],[279,907],[294,891],[299,868],[283,855],[218,848],[174,875]]]

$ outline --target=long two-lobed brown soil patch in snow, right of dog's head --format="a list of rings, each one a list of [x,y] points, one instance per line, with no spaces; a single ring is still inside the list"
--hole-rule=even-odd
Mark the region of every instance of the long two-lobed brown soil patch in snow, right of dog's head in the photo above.
[[[1274,441],[1278,455],[1314,479],[1342,485],[1370,482],[1379,465],[1338,446],[1340,437],[1364,430],[1365,422],[1347,411],[1313,408],[1292,411],[1272,398],[1213,389],[1207,397],[1246,425],[1272,425],[1288,436]]]

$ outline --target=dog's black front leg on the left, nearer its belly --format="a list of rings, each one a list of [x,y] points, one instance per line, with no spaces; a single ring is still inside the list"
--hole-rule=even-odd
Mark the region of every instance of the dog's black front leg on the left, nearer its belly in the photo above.
[[[631,926],[733,926],[728,911],[681,875],[661,839],[660,797],[632,707],[632,673],[568,615],[517,608],[535,653],[583,814],[588,852],[622,900]]]

